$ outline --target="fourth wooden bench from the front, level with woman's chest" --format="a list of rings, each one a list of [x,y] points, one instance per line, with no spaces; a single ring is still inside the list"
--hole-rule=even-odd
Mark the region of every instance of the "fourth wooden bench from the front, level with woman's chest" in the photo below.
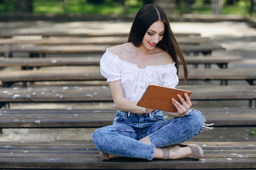
[[[221,85],[228,84],[228,80],[243,80],[250,85],[256,84],[256,68],[228,68],[228,69],[189,69],[188,80],[220,80]],[[183,80],[183,71],[179,72],[180,80]],[[99,71],[99,66],[87,66],[76,70],[20,70],[1,71],[0,80],[3,87],[10,87],[17,82],[23,82],[24,87],[27,82],[45,81],[90,81],[106,80]]]

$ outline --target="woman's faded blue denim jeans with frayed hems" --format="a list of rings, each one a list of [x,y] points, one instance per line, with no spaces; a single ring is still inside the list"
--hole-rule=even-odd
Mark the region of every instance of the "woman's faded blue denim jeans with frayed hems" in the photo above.
[[[165,120],[162,111],[135,114],[117,111],[113,124],[95,130],[94,145],[102,152],[119,156],[152,160],[155,148],[180,144],[202,131],[204,116],[190,110],[184,117]],[[148,136],[152,146],[139,139]]]

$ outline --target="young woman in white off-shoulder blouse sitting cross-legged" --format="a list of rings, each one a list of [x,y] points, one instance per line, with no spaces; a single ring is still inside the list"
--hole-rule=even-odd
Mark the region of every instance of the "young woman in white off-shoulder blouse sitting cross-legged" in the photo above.
[[[192,106],[189,96],[177,95],[172,103],[177,113],[137,106],[149,84],[175,88],[178,59],[187,69],[182,51],[171,31],[164,11],[156,4],[142,7],[135,16],[128,42],[106,50],[101,58],[101,74],[107,78],[115,107],[113,124],[97,129],[92,139],[102,159],[133,157],[152,160],[203,157],[198,145],[181,145],[201,132],[204,116]]]

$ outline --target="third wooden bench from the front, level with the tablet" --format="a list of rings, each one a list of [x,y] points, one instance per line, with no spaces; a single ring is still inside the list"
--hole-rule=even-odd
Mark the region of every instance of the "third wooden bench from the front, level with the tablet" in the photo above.
[[[196,101],[249,101],[249,107],[256,99],[256,86],[177,86],[192,92]],[[9,103],[27,102],[112,102],[108,86],[49,86],[34,88],[0,88],[0,108]],[[256,105],[256,104],[255,104]]]

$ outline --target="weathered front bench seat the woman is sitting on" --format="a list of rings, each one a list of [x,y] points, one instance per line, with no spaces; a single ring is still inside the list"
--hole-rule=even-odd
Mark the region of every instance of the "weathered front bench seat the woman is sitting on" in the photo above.
[[[202,159],[152,161],[117,158],[104,161],[92,142],[0,142],[0,167],[10,169],[254,169],[254,142],[193,142],[204,150]],[[187,144],[187,143],[184,143]]]

